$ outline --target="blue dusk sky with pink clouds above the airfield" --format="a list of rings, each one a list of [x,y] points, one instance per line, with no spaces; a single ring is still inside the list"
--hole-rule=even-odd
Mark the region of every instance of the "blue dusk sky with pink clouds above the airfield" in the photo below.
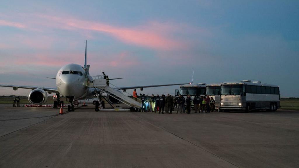
[[[68,63],[118,87],[252,80],[299,97],[299,1],[2,1],[0,84],[56,87]],[[174,94],[179,86],[139,93]],[[30,90],[0,88],[0,95]],[[129,92],[129,91],[128,91]]]

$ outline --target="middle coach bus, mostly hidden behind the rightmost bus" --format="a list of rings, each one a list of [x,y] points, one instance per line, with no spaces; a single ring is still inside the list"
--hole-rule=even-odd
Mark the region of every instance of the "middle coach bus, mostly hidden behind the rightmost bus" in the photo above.
[[[215,109],[220,107],[221,83],[207,85],[207,94],[215,100]]]

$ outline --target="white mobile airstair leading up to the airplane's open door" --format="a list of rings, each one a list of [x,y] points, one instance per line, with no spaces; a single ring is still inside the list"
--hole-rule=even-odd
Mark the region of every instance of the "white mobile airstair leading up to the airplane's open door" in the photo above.
[[[110,83],[111,84],[111,83]],[[100,89],[100,94],[106,93],[107,95],[119,100],[120,102],[126,104],[127,106],[135,106],[140,108],[141,103],[135,101],[134,99],[126,96],[122,92],[108,86],[106,84],[106,79],[103,79],[100,75],[95,77],[91,83],[89,83],[89,87]]]

